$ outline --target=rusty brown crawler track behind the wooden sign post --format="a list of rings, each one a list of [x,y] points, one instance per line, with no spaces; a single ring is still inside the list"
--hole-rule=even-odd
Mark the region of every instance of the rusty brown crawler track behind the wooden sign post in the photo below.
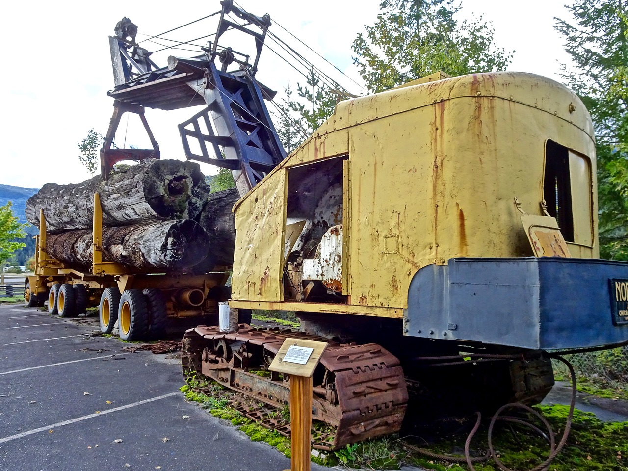
[[[334,432],[315,433],[313,447],[337,450],[401,428],[408,403],[403,370],[399,360],[377,344],[335,344],[302,332],[249,325],[241,325],[235,333],[201,326],[183,337],[183,372],[195,371],[258,403],[282,409],[290,398],[289,378],[268,371],[268,365],[286,337],[328,342],[313,374],[312,417]],[[245,404],[240,408],[261,425],[289,435],[290,424],[274,418],[273,409],[251,410]]]

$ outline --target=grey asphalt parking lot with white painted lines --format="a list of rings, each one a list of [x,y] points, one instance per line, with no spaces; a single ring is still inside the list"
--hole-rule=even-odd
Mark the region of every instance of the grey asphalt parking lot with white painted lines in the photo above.
[[[97,318],[0,305],[0,471],[290,468],[187,403],[178,359],[87,335],[97,329]]]

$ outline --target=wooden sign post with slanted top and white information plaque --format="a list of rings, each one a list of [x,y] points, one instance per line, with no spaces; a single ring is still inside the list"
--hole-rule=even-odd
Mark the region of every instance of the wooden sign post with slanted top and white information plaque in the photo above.
[[[288,337],[268,367],[290,374],[290,471],[310,471],[312,374],[326,348],[325,342]]]

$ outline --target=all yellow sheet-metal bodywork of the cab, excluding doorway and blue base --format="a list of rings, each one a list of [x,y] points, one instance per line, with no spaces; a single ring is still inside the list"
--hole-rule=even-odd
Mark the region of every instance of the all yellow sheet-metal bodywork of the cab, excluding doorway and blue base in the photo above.
[[[548,139],[582,164],[571,188],[571,255],[597,257],[593,126],[580,99],[563,85],[529,73],[483,73],[340,102],[308,141],[234,206],[233,298],[251,301],[234,306],[325,312],[361,306],[398,317],[391,313],[407,306],[409,282],[420,268],[452,257],[533,255],[512,202],[517,197],[528,214],[541,215]],[[284,173],[344,154],[349,305],[317,310],[283,303]]]

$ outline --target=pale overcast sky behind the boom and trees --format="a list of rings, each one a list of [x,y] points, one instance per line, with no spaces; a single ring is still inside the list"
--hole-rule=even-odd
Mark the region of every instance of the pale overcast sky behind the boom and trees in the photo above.
[[[372,24],[379,11],[379,0],[238,0],[242,8],[259,16],[268,13],[271,31],[296,46],[286,30],[318,53],[359,80],[352,65],[351,43],[364,24]],[[509,70],[538,73],[560,80],[559,62],[568,58],[563,40],[553,30],[554,17],[568,18],[564,0],[462,0],[458,19],[483,16],[492,22],[495,42],[507,51],[514,50]],[[70,2],[18,1],[5,6],[3,86],[3,143],[0,184],[39,188],[54,181],[78,183],[90,178],[78,161],[79,143],[90,128],[105,134],[113,111],[107,90],[113,88],[113,75],[107,36],[122,16],[138,25],[138,40],[157,35],[181,24],[214,13],[218,0],[198,2],[133,1]],[[166,35],[187,41],[215,32],[218,16],[205,19],[183,30]],[[225,35],[226,37],[226,35]],[[203,41],[197,41],[203,43]],[[222,41],[221,41],[222,42]],[[271,43],[269,43],[271,45]],[[144,45],[149,50],[160,46]],[[273,48],[276,49],[275,46]],[[193,51],[168,50],[153,55],[158,65],[166,65],[168,55],[191,57]],[[326,72],[331,72],[328,68]],[[264,50],[257,78],[275,90],[289,84],[295,87],[303,77],[272,51]],[[364,93],[339,73],[334,75],[354,94]],[[196,111],[146,110],[153,134],[160,143],[162,158],[185,159],[176,124]],[[116,142],[144,145],[139,120],[122,119]],[[214,173],[203,168],[205,173]]]

